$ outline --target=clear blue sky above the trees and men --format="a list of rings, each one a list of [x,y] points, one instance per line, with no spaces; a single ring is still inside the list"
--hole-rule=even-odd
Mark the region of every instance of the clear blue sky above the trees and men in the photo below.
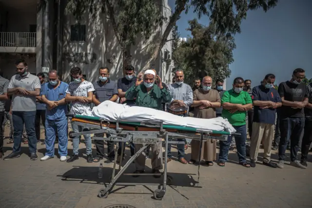
[[[175,0],[168,0],[174,10]],[[235,77],[252,80],[252,85],[268,73],[276,76],[276,82],[290,80],[295,68],[306,70],[312,78],[312,0],[279,0],[276,7],[265,13],[263,10],[249,11],[242,21],[241,33],[235,35],[236,49],[232,74],[227,79],[230,89]],[[180,37],[190,35],[188,20],[197,18],[191,9],[177,21]],[[208,25],[208,17],[199,23]]]

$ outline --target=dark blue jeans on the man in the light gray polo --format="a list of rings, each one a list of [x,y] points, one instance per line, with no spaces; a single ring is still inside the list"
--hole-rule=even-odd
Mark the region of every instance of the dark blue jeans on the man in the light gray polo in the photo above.
[[[25,129],[28,135],[28,147],[29,153],[36,153],[37,151],[37,137],[35,130],[35,118],[36,111],[13,111],[12,112],[12,121],[14,129],[14,146],[13,152],[20,153],[20,143],[22,141],[21,135],[23,133],[23,128]]]

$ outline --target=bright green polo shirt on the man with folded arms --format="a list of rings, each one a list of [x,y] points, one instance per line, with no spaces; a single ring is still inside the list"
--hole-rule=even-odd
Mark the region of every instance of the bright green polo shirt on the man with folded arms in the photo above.
[[[252,98],[246,91],[241,91],[239,94],[230,89],[223,93],[221,98],[221,104],[231,103],[231,104],[252,104]],[[229,120],[231,125],[240,126],[246,125],[246,111],[236,111],[235,113],[230,113],[229,110],[223,108],[222,117]]]

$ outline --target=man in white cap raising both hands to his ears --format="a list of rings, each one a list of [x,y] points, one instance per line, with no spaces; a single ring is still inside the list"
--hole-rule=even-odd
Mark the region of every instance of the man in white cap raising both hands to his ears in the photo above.
[[[155,80],[158,80],[157,85],[154,84]],[[140,73],[137,77],[136,84],[133,85],[125,95],[127,100],[136,99],[136,105],[141,107],[149,107],[157,110],[162,110],[161,103],[164,101],[169,103],[172,100],[172,96],[169,91],[163,87],[159,76],[156,76],[153,70],[146,70],[144,72],[144,77],[142,79],[142,74]],[[162,169],[162,142],[157,142],[157,144],[151,145],[153,157],[152,157],[152,171],[153,173],[160,173],[159,170]],[[136,152],[142,148],[142,144],[136,144]],[[143,173],[145,169],[145,156],[140,154],[136,161],[136,171],[135,173]],[[137,177],[135,175],[134,177]],[[160,175],[155,175],[159,178]]]

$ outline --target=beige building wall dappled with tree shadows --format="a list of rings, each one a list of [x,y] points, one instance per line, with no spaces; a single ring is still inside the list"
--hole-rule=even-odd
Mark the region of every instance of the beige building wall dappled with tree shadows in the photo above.
[[[159,4],[163,3],[163,1],[165,3],[167,2],[166,0],[157,1],[159,1]],[[168,4],[166,7],[170,8]],[[164,7],[160,6],[159,8],[163,10]],[[100,11],[100,9],[98,10]],[[169,15],[169,12],[167,11],[166,14]],[[164,14],[164,11],[162,13]],[[85,42],[70,42],[70,26],[75,23],[76,20],[73,17],[65,16],[63,25],[63,80],[69,81],[69,71],[74,66],[80,67],[83,74],[86,74],[87,80],[91,82],[98,79],[98,68],[100,66],[106,66],[110,69],[112,80],[122,77],[122,54],[120,46],[115,37],[113,27],[110,21],[105,18],[105,14],[98,13],[96,20],[85,15],[84,20],[80,22],[86,25]],[[131,64],[135,66],[136,71],[141,70],[149,59],[152,43],[155,42],[156,38],[160,38],[164,28],[165,25],[163,25],[163,28],[156,28],[154,35],[149,40],[143,40],[140,37],[137,38],[137,44],[131,47]],[[164,48],[171,51],[171,42],[167,42]],[[162,79],[168,74],[166,70],[163,71],[163,66],[165,65],[166,63],[162,63],[161,59],[158,58],[152,66],[158,71]]]

